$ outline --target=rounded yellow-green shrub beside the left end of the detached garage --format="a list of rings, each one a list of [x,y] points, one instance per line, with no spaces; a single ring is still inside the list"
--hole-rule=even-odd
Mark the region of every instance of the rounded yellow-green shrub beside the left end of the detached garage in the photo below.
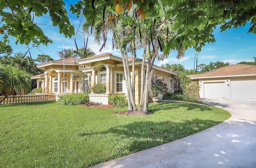
[[[189,83],[185,89],[184,95],[186,99],[198,99],[200,86],[196,82]]]

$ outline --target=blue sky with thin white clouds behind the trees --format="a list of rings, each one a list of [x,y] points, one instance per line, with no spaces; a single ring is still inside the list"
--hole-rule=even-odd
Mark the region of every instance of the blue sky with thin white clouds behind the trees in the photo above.
[[[69,12],[69,2],[72,1],[64,0],[64,2],[66,2],[66,10],[68,11],[70,22],[75,27],[75,30],[77,30],[81,18],[76,18],[76,15]],[[84,20],[82,20],[82,23],[83,22]],[[28,45],[32,58],[36,59],[38,54],[46,54],[50,55],[53,59],[59,59],[56,52],[63,51],[63,40],[65,43],[65,49],[76,48],[74,43],[74,38],[76,36],[72,37],[71,39],[65,38],[63,34],[59,33],[58,27],[52,26],[50,17],[44,16],[42,18],[37,18],[36,23],[43,24],[40,27],[42,28],[46,36],[48,36],[48,38],[53,41],[53,43],[49,44],[47,47],[44,45],[40,45],[39,48]],[[202,47],[202,51],[198,55],[198,65],[201,63],[207,65],[210,62],[216,61],[223,61],[224,63],[229,62],[230,64],[236,64],[240,61],[254,61],[252,57],[256,57],[256,34],[247,33],[249,28],[249,23],[246,24],[246,26],[244,27],[231,29],[222,33],[217,28],[214,32],[216,42],[209,44],[207,43],[204,47]],[[82,36],[82,34],[78,34],[78,36]],[[112,50],[111,37],[108,38],[110,41],[106,44],[105,48],[102,49],[101,52],[99,52],[101,45],[97,45],[96,43],[94,43],[93,36],[90,36],[88,39],[88,47],[91,48],[96,53],[96,55],[109,52],[112,53],[112,55],[121,57],[120,51],[116,49]],[[16,39],[10,38],[10,45],[13,49],[13,55],[14,53],[20,51],[26,52],[28,50],[25,45],[16,45],[15,42]],[[76,38],[76,43],[78,45],[78,48],[83,47],[84,38]],[[155,61],[155,65],[160,66],[165,63],[180,63],[181,65],[184,65],[185,69],[193,69],[195,53],[196,51],[194,49],[188,49],[185,52],[185,57],[178,60],[176,59],[177,53],[174,52],[171,53],[168,59],[165,59],[164,61]],[[141,54],[142,51],[138,50],[137,57],[141,58]],[[128,53],[128,55],[130,55],[130,53]]]

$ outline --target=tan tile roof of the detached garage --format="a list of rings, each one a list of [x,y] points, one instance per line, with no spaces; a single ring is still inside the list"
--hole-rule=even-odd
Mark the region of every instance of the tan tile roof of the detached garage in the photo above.
[[[196,75],[194,78],[198,77],[218,77],[218,76],[232,76],[232,75],[249,75],[256,74],[256,66],[254,65],[244,65],[235,64],[228,65],[226,67],[221,67],[200,75]]]

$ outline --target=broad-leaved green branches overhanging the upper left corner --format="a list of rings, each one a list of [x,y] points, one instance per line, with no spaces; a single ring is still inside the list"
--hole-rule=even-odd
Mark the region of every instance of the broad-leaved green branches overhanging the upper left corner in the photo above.
[[[52,25],[58,26],[65,37],[74,36],[74,26],[70,24],[63,0],[0,0],[1,39],[8,43],[8,37],[13,36],[17,40],[16,44],[26,45],[30,42],[34,45],[52,43],[36,19],[43,15],[49,15]]]

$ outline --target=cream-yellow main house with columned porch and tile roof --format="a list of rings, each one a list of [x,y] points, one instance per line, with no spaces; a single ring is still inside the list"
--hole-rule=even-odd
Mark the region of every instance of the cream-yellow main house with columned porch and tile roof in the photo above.
[[[132,77],[132,58],[128,57],[130,77]],[[80,93],[80,87],[77,81],[72,80],[72,72],[82,71],[86,73],[91,79],[91,86],[98,83],[106,85],[106,94],[89,94],[90,101],[98,102],[103,104],[108,104],[108,95],[110,94],[126,94],[126,83],[124,77],[124,67],[122,63],[122,58],[116,57],[111,53],[104,53],[101,55],[96,55],[93,57],[87,57],[84,59],[76,58],[65,58],[65,75],[66,83],[63,84],[63,72],[64,65],[63,59],[56,61],[51,61],[48,63],[42,63],[37,65],[38,68],[43,69],[46,78],[44,76],[33,76],[32,79],[37,79],[38,84],[42,85],[44,93]],[[78,69],[82,66],[82,69]],[[142,59],[136,58],[135,60],[135,101],[136,104],[139,103],[140,99],[140,74],[141,72]],[[144,64],[146,69],[146,63]],[[146,70],[145,70],[146,71]],[[153,65],[152,69],[154,76],[162,79],[168,86],[170,92],[174,92],[174,79],[177,77],[178,73],[164,69]],[[144,75],[145,77],[145,75]],[[58,80],[61,79],[61,80]],[[76,91],[76,92],[75,92]]]

